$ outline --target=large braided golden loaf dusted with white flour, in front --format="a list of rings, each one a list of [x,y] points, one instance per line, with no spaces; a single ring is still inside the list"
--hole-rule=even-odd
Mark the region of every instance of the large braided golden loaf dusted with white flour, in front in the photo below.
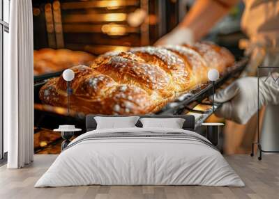
[[[227,49],[209,42],[109,52],[89,66],[72,67],[70,109],[106,115],[153,113],[208,81],[211,68],[224,74],[233,63]],[[45,104],[66,107],[66,81],[50,79],[39,95]]]

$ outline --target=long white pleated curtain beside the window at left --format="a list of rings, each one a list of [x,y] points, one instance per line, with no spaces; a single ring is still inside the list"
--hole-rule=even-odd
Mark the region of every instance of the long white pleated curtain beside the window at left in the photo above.
[[[33,161],[33,16],[31,0],[10,1],[9,65],[4,67],[7,168]]]

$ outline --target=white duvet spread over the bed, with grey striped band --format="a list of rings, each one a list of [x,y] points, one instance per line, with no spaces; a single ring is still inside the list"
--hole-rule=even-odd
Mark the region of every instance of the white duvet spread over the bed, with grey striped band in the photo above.
[[[35,187],[101,185],[244,186],[222,154],[202,142],[183,138],[98,138],[101,133],[180,132],[183,129],[98,129],[75,138]],[[83,140],[83,141],[82,141]]]

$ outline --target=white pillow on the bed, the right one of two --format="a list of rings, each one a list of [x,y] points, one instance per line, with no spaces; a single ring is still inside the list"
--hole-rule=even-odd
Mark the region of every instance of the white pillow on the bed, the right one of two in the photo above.
[[[183,118],[140,118],[143,128],[172,128],[182,129],[185,119]]]

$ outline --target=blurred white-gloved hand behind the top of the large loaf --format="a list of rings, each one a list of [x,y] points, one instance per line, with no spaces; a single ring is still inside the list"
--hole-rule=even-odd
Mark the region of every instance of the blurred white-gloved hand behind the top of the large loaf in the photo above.
[[[193,44],[194,36],[193,31],[186,28],[175,28],[163,38],[160,38],[154,45],[182,45],[182,44]]]

